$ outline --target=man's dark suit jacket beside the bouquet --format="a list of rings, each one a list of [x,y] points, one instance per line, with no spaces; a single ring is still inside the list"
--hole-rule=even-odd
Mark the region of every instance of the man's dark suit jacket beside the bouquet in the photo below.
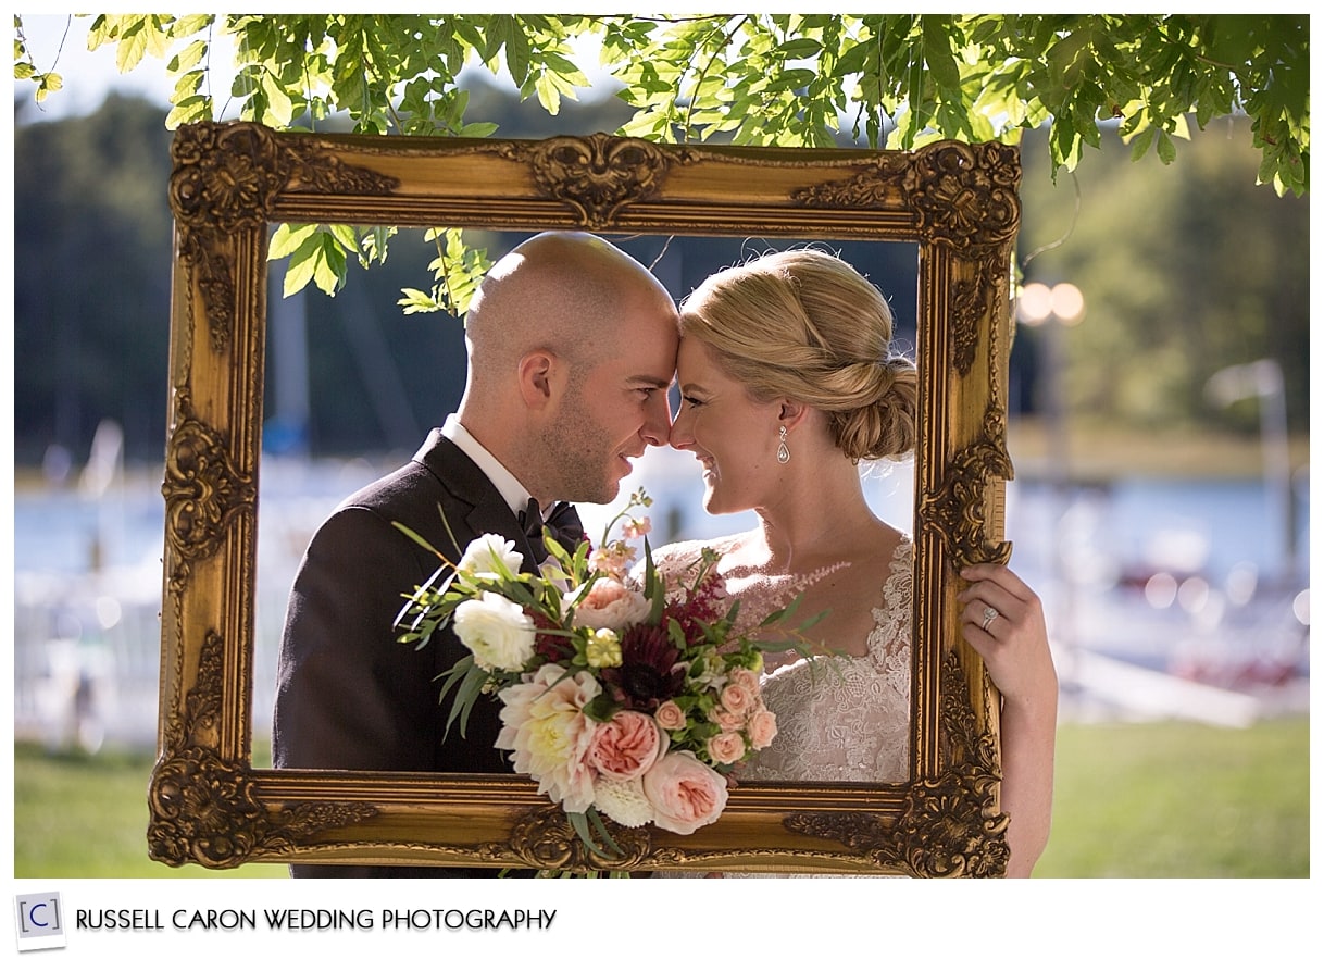
[[[455,536],[450,540],[438,507]],[[271,751],[277,768],[510,772],[493,747],[498,706],[481,697],[466,735],[445,735],[450,702],[437,676],[465,654],[448,629],[426,646],[396,641],[395,619],[437,558],[404,523],[457,562],[495,532],[535,570],[519,522],[481,469],[433,430],[406,465],[348,497],[310,543],[286,611]],[[294,876],[491,876],[491,870],[291,866]]]

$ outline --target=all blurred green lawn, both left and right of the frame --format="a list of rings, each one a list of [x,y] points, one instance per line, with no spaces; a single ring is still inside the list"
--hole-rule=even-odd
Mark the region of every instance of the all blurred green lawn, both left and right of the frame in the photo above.
[[[265,760],[263,760],[265,762]],[[147,858],[152,758],[15,747],[15,877],[285,877]],[[1039,877],[1308,877],[1309,719],[1067,725]]]

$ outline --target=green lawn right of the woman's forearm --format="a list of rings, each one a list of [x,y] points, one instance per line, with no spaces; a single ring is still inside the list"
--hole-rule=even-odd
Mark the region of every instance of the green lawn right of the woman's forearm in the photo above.
[[[1058,731],[1037,877],[1308,877],[1309,719]]]

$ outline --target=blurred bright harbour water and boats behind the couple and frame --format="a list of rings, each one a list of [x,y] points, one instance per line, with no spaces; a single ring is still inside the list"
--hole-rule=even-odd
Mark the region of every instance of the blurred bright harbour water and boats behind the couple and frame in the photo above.
[[[106,438],[106,433],[110,438]],[[160,474],[101,456],[62,483],[15,490],[15,731],[52,747],[150,746],[156,734],[164,509]],[[281,621],[316,525],[388,460],[267,456],[261,465],[254,735],[269,732]],[[655,543],[747,529],[710,517],[688,453],[650,449],[643,486]],[[875,466],[870,502],[912,523],[908,465]],[[1304,483],[1294,529],[1309,525]],[[620,502],[584,509],[594,538]],[[1308,709],[1308,556],[1291,550],[1258,478],[1128,477],[1009,485],[1013,567],[1045,600],[1063,718],[1184,718],[1245,726]]]

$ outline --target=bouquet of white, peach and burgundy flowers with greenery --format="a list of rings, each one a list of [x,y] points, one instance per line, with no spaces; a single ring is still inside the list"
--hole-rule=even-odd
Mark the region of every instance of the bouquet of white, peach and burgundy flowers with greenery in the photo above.
[[[600,816],[690,834],[722,815],[726,774],[777,732],[759,691],[763,654],[801,648],[809,625],[786,625],[790,603],[737,628],[712,551],[663,576],[647,518],[633,517],[650,505],[636,493],[596,550],[585,540],[569,554],[545,536],[538,575],[519,572],[512,543],[481,536],[400,617],[402,642],[424,644],[449,624],[469,649],[442,677],[441,697],[454,694],[448,734],[455,722],[463,734],[474,701],[495,694],[496,747],[594,849],[591,825],[612,842]],[[621,538],[609,539],[618,522]],[[642,572],[628,542],[637,539]]]

